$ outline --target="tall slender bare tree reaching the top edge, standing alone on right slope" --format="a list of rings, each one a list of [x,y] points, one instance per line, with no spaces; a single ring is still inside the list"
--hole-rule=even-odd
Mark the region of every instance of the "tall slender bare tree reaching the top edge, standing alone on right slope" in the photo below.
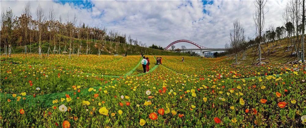
[[[266,0],[256,0],[254,2],[255,4],[255,13],[253,14],[253,19],[255,22],[256,26],[256,35],[259,38],[257,45],[258,45],[258,52],[259,52],[259,64],[261,64],[261,36],[262,36],[262,31],[263,31],[263,26],[265,24],[264,20],[264,15],[267,13],[264,11],[264,6],[266,5],[267,1]],[[257,52],[256,52],[257,53]]]

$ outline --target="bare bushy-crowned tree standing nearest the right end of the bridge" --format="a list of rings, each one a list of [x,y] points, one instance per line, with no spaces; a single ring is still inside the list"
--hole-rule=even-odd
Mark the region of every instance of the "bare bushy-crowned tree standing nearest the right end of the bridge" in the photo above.
[[[235,53],[236,64],[237,62],[237,54],[242,50],[241,45],[245,40],[244,28],[241,26],[238,18],[234,20],[233,29],[230,31],[230,47]]]

